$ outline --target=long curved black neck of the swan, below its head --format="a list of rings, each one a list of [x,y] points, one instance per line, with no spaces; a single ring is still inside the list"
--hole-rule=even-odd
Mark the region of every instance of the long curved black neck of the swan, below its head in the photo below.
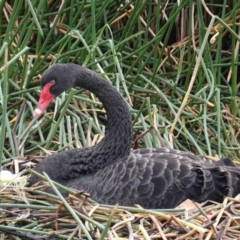
[[[132,120],[127,103],[111,84],[86,68],[71,65],[75,75],[74,85],[94,93],[102,102],[107,114],[105,137],[99,144],[87,148],[83,156],[83,161],[86,161],[89,167],[88,171],[92,172],[129,155]]]

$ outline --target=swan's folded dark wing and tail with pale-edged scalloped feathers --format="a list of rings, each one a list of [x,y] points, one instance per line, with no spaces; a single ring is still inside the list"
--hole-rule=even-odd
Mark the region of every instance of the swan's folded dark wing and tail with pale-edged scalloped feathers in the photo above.
[[[222,201],[239,192],[240,170],[231,160],[205,162],[188,152],[139,149],[94,175],[71,182],[99,203],[176,207],[189,198]]]

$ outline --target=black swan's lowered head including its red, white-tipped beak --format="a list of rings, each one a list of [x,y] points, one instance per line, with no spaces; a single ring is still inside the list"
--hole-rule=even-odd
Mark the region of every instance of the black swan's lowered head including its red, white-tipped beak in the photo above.
[[[55,64],[47,69],[41,80],[41,92],[33,116],[43,114],[55,97],[73,86],[74,74],[70,64]]]

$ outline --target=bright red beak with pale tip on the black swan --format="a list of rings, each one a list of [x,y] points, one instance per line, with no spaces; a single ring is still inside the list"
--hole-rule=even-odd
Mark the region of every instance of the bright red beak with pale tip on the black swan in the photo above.
[[[50,94],[51,83],[47,83],[41,90],[40,97],[38,100],[37,108],[34,110],[33,116],[35,118],[41,116],[48,105],[52,102],[54,97]]]

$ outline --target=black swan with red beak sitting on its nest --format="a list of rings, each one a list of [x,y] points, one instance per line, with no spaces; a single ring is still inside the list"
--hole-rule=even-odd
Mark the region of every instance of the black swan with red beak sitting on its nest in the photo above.
[[[240,169],[228,158],[210,163],[173,149],[131,151],[132,121],[125,100],[104,78],[82,66],[55,64],[43,73],[34,116],[71,87],[88,89],[103,103],[106,136],[93,147],[50,155],[36,171],[67,187],[86,190],[103,204],[173,208],[187,198],[222,202],[225,196],[240,193]],[[37,181],[31,176],[31,185]]]

